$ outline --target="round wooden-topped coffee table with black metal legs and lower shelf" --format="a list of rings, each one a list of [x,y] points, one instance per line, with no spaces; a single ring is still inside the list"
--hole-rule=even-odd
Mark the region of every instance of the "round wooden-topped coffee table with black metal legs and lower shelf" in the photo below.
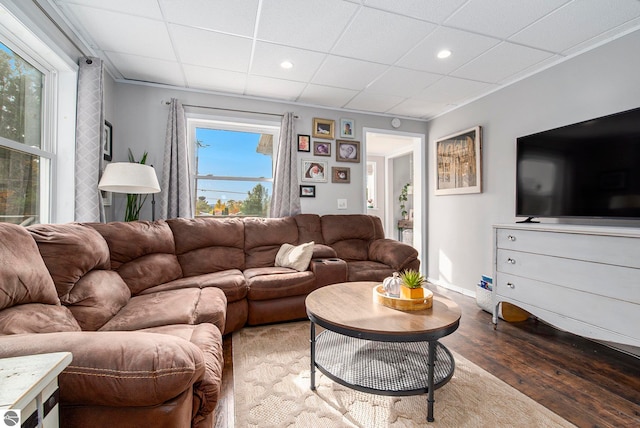
[[[391,309],[376,301],[377,285],[334,284],[307,296],[311,389],[315,390],[318,368],[333,381],[358,391],[427,393],[427,420],[432,422],[433,391],[447,383],[455,369],[451,352],[438,339],[458,328],[460,308],[434,293],[430,309]],[[324,329],[317,335],[316,325]]]

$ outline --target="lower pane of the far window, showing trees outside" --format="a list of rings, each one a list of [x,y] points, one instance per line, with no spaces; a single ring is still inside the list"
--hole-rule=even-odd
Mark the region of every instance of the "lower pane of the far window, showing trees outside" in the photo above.
[[[268,217],[270,181],[196,180],[196,216]]]

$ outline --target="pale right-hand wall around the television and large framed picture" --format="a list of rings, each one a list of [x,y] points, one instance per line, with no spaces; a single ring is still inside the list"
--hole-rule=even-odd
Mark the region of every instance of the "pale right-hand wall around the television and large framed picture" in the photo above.
[[[519,136],[640,106],[640,31],[430,121],[430,280],[467,294],[492,274],[491,226],[516,221],[515,141]],[[482,126],[481,194],[434,196],[434,140]]]

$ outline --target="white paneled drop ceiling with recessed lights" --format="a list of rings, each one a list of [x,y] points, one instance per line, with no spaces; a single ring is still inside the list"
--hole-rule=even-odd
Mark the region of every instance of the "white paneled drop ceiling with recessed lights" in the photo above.
[[[48,1],[116,81],[418,119],[640,28],[639,0]]]

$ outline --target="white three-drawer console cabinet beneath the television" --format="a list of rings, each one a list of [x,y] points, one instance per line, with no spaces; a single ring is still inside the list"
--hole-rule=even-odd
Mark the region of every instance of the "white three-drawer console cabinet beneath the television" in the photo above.
[[[640,347],[640,230],[495,225],[493,322],[513,303],[562,330]]]

